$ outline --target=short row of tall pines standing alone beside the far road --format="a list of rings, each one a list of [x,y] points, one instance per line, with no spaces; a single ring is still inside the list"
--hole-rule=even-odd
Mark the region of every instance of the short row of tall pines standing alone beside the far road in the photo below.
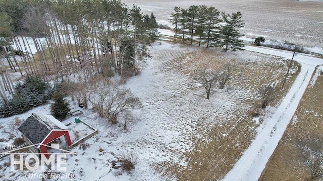
[[[224,47],[228,49],[242,50],[244,46],[243,35],[239,29],[244,27],[241,12],[226,14],[220,13],[214,7],[190,6],[188,9],[175,7],[171,15],[171,23],[174,25],[175,42],[189,41],[193,44],[194,37],[198,37],[206,47]]]

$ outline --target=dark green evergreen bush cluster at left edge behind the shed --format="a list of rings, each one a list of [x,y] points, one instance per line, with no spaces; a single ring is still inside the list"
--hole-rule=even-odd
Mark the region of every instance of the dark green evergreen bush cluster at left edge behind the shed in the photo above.
[[[27,76],[23,82],[15,86],[15,94],[8,102],[0,105],[1,117],[22,114],[30,109],[46,103],[51,97],[52,88],[38,76]]]

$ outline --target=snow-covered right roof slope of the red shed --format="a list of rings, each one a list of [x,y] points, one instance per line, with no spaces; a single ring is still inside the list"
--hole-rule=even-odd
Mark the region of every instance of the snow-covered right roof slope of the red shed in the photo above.
[[[69,128],[65,126],[62,122],[57,120],[51,115],[43,114],[43,113],[32,113],[34,117],[41,121],[42,123],[46,124],[51,129],[62,129],[68,130]]]

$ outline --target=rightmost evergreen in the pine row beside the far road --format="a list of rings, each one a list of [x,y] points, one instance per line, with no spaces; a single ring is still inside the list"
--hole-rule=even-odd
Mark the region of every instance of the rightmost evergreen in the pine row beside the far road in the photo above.
[[[239,33],[239,29],[244,27],[242,14],[240,12],[232,13],[232,15],[222,13],[222,18],[225,25],[221,26],[220,34],[222,37],[221,46],[225,46],[224,51],[228,48],[235,50],[243,50],[245,46],[242,40],[239,40],[243,35]]]

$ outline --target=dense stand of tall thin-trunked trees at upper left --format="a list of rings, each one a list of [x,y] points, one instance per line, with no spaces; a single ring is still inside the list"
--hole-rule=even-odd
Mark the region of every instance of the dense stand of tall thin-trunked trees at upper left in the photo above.
[[[131,76],[149,57],[147,46],[158,38],[153,13],[143,15],[140,7],[129,9],[119,0],[5,0],[0,2],[0,47],[14,45],[21,61],[2,51],[12,70],[21,76],[75,76],[84,79]],[[37,53],[31,54],[32,38]],[[12,57],[11,57],[12,56]],[[2,62],[1,96],[14,93]]]

